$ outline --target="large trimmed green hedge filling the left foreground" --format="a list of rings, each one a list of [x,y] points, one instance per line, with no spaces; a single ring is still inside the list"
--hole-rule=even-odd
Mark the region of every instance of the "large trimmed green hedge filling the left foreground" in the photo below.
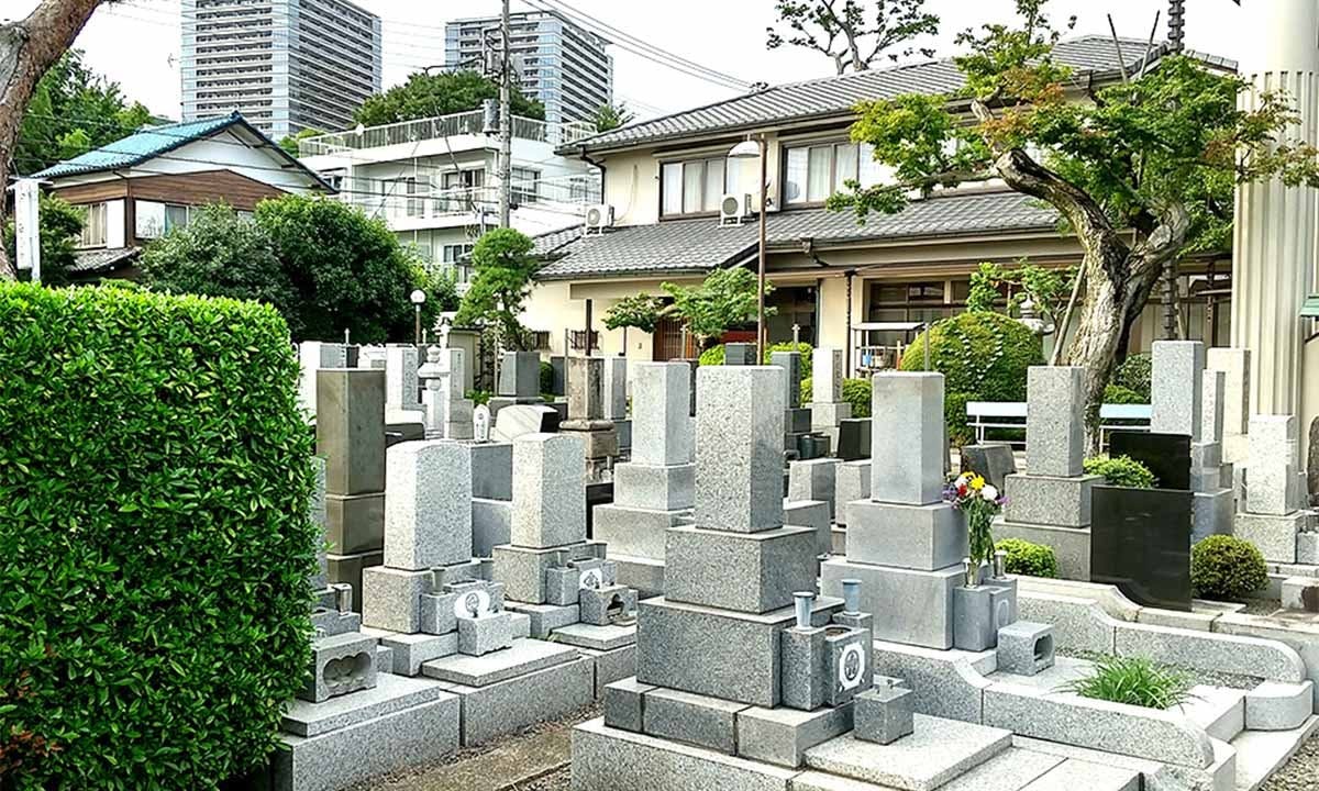
[[[264,763],[319,542],[284,319],[4,283],[0,327],[0,786],[214,788]]]

